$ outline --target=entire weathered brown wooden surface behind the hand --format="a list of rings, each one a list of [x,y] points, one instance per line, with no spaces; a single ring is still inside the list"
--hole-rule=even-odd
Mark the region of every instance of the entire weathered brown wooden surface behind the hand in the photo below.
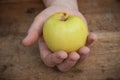
[[[98,35],[88,58],[71,71],[46,67],[38,45],[24,47],[41,0],[0,0],[0,80],[120,80],[120,0],[78,0],[89,29]]]

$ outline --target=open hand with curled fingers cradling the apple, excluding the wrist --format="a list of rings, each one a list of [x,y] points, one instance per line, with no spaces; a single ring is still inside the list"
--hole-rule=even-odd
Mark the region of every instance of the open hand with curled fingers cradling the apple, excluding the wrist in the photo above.
[[[96,40],[94,33],[89,33],[86,45],[78,50],[78,52],[66,53],[65,51],[57,51],[52,53],[46,46],[42,38],[42,27],[46,19],[56,12],[68,12],[71,15],[81,17],[85,22],[85,18],[78,10],[71,10],[60,6],[51,6],[41,12],[31,25],[28,35],[23,40],[25,46],[34,44],[39,39],[40,56],[44,64],[49,67],[56,66],[60,71],[70,70],[78,61],[83,61],[89,54],[88,46]],[[87,24],[87,23],[86,23]]]

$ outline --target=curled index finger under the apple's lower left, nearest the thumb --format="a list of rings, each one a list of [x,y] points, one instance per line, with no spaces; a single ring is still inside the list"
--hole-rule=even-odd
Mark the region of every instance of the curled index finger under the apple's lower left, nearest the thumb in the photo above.
[[[64,59],[67,58],[67,53],[64,51],[57,51],[51,53],[43,40],[39,42],[39,47],[41,59],[49,67],[54,67],[55,65],[61,63]]]

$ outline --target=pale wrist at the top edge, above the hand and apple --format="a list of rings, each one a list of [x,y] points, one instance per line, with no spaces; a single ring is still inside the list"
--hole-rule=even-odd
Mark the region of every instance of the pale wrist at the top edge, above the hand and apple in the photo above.
[[[71,10],[78,10],[77,0],[43,0],[46,7],[60,6]]]

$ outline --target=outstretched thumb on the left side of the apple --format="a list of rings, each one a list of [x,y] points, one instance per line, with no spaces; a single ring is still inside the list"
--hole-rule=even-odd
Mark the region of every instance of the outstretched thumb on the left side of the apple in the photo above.
[[[43,22],[44,18],[42,15],[34,19],[30,29],[28,30],[28,35],[23,40],[23,44],[25,46],[30,46],[38,40],[40,34],[42,33]]]

